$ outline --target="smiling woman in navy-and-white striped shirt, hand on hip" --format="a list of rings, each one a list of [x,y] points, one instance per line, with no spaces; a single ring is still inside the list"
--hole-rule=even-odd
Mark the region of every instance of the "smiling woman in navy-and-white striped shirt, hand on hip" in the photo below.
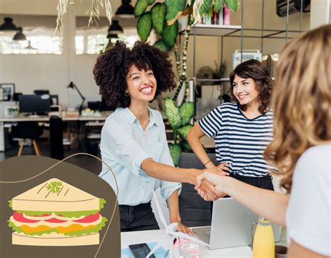
[[[273,137],[270,73],[260,61],[249,60],[230,73],[230,85],[233,103],[223,103],[201,119],[189,132],[189,144],[203,165],[212,168],[215,165],[200,138],[214,137],[216,160],[224,172],[245,183],[273,190],[268,173],[272,167],[263,159],[263,151]]]

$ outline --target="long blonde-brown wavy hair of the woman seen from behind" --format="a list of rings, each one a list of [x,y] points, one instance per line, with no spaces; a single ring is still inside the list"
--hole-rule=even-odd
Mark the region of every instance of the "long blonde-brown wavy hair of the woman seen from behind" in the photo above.
[[[274,139],[264,155],[279,169],[281,187],[289,193],[302,153],[331,142],[331,25],[286,45],[278,61],[272,106]]]

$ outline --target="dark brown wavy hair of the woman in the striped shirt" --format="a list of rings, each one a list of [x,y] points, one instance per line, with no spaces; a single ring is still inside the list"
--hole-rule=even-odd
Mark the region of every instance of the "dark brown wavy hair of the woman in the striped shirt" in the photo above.
[[[240,63],[230,73],[230,98],[233,102],[240,105],[239,101],[233,95],[233,80],[235,75],[244,79],[251,78],[256,84],[256,90],[258,91],[258,111],[261,114],[268,112],[270,107],[271,93],[272,93],[272,79],[270,77],[269,70],[260,61],[251,59]],[[240,109],[246,111],[246,105],[240,105]]]

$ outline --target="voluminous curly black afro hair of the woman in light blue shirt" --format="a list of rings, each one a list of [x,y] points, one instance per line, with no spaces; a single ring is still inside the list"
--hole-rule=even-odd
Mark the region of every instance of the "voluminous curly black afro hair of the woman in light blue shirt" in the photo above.
[[[94,80],[105,103],[112,107],[130,105],[131,99],[124,93],[128,69],[133,65],[139,70],[153,70],[157,83],[155,96],[161,91],[174,89],[175,74],[168,57],[167,53],[142,41],[135,42],[132,50],[117,41],[114,47],[98,57],[93,69]]]

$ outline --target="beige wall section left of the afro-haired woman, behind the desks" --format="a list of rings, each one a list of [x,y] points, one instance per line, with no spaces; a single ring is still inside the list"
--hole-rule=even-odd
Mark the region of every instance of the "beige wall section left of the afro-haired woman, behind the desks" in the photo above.
[[[117,10],[120,1],[114,2],[112,7]],[[76,13],[85,13],[88,3],[89,1],[82,1],[82,6],[76,6]],[[0,0],[0,13],[57,15],[56,6],[57,0]],[[17,22],[19,21],[14,21],[19,26]],[[64,17],[63,54],[0,55],[0,82],[14,82],[15,91],[22,93],[33,93],[34,89],[49,89],[50,93],[59,95],[59,101],[65,107],[75,107],[80,105],[80,96],[77,92],[66,89],[69,82],[73,81],[87,101],[100,100],[92,75],[98,56],[76,55],[74,36],[75,13],[73,8],[68,8],[68,15]]]

